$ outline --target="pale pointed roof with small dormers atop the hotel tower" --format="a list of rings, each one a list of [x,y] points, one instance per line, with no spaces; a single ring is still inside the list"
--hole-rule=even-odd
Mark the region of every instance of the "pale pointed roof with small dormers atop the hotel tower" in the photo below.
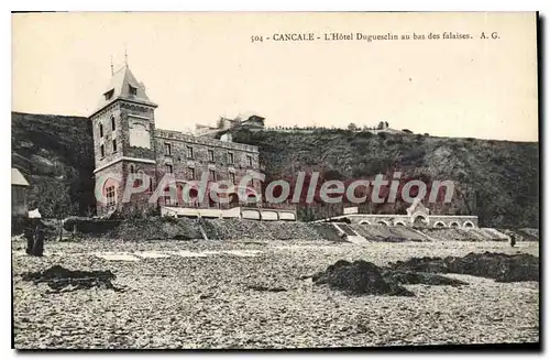
[[[130,92],[130,86],[136,89],[135,95]],[[113,94],[109,99],[106,99],[106,94],[109,91],[112,91]],[[151,101],[145,94],[145,85],[135,79],[135,76],[132,74],[128,65],[124,65],[112,75],[111,80],[103,90],[103,94],[101,94],[101,99],[98,101],[94,112],[97,112],[99,109],[102,109],[117,99],[138,101],[156,107],[156,103]]]

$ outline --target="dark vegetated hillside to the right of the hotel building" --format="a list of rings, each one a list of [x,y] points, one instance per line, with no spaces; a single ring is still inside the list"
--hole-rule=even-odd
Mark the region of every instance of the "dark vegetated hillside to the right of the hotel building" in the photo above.
[[[376,174],[393,179],[395,172],[402,172],[402,184],[454,182],[452,201],[428,204],[432,214],[477,215],[482,226],[539,226],[538,143],[324,129],[312,133],[241,129],[233,141],[260,146],[267,179],[293,182],[299,171],[319,172],[319,183],[372,179]],[[360,209],[404,214],[409,205],[398,198],[395,204],[365,201]],[[302,219],[315,219],[341,214],[341,207],[319,201],[300,205],[298,212]]]

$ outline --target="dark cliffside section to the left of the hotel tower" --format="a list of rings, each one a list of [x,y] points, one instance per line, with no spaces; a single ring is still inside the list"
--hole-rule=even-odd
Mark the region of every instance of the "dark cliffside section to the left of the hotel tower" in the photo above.
[[[43,217],[94,214],[88,119],[12,112],[11,139],[12,166],[31,184],[30,209],[38,208]]]

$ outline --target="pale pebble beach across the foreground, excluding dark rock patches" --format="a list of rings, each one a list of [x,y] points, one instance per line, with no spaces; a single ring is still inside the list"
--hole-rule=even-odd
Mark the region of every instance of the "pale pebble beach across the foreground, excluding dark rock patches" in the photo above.
[[[469,252],[539,255],[538,242],[311,240],[12,241],[16,349],[280,349],[539,341],[539,283],[447,274],[414,297],[352,296],[308,277],[338,260],[376,265]],[[52,292],[22,274],[110,270],[123,291]]]

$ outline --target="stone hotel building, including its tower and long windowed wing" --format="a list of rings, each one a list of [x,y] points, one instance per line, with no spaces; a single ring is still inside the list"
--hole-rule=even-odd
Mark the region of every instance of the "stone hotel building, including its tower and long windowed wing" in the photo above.
[[[102,199],[97,201],[100,216],[113,210],[150,211],[163,205],[219,208],[223,205],[208,195],[202,201],[184,201],[183,187],[186,183],[198,183],[202,174],[208,174],[208,184],[221,181],[239,184],[245,175],[260,171],[256,146],[156,129],[154,110],[157,106],[148,100],[143,84],[135,80],[128,66],[113,74],[103,97],[90,116],[96,193],[102,195]],[[130,174],[133,175],[129,179]],[[147,175],[152,184],[146,186],[134,179],[139,174]],[[177,181],[177,185],[160,189],[156,193],[158,198],[152,200],[157,186],[164,186],[166,174]],[[124,189],[128,192],[128,187],[140,186],[146,188],[130,192],[131,196],[125,201]],[[249,182],[246,194],[258,194],[260,186],[258,181]],[[238,196],[231,199],[233,203],[246,203]]]

